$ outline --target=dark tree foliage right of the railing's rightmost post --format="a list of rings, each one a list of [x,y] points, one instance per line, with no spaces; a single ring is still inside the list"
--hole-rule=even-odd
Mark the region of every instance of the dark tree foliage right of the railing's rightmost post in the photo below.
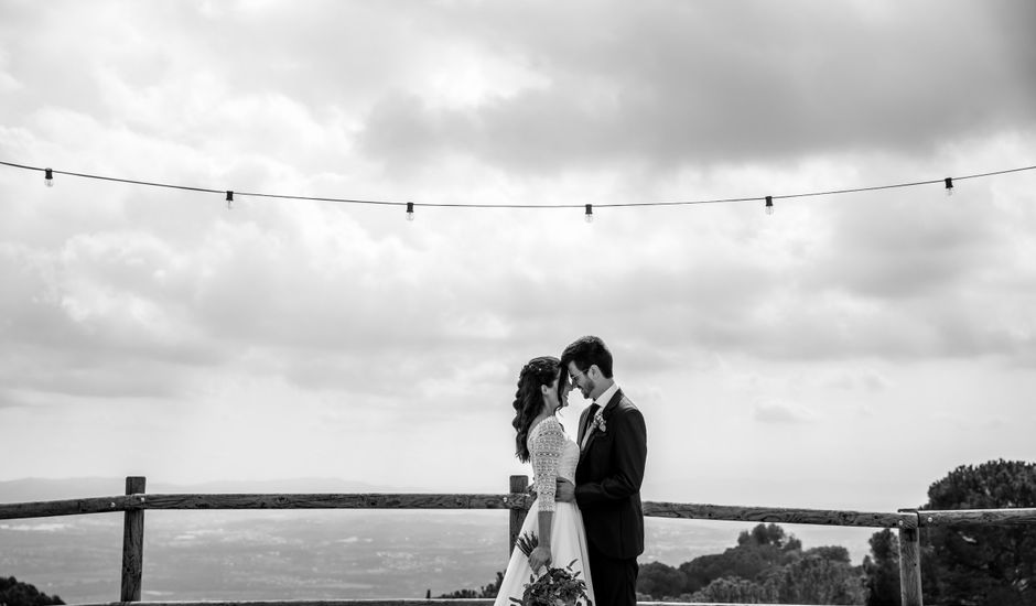
[[[928,488],[924,509],[1036,507],[1036,464],[961,465]],[[1036,603],[1036,527],[932,527],[921,534],[926,603],[1014,606]]]

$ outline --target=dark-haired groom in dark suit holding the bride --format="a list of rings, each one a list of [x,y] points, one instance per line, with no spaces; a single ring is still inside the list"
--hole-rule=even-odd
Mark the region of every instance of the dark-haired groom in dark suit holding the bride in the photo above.
[[[557,499],[575,500],[583,512],[596,606],[634,606],[637,555],[644,552],[644,415],[612,378],[612,353],[600,337],[565,347],[561,368],[594,403],[580,416],[575,486],[559,480]]]

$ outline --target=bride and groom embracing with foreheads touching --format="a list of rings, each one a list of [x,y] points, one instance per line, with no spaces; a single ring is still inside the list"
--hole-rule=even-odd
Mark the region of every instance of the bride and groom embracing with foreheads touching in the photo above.
[[[575,441],[555,416],[573,389],[594,402],[580,416]],[[594,606],[634,606],[647,429],[612,376],[611,351],[587,336],[560,360],[533,358],[518,376],[514,405],[517,455],[532,464],[537,497],[519,535],[533,534],[538,545],[528,558],[514,550],[495,606],[512,606],[530,575],[573,560]]]

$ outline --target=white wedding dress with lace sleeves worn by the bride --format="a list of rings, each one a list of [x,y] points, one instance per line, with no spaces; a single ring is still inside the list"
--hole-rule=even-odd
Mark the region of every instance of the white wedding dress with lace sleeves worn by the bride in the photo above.
[[[575,466],[579,464],[579,445],[568,437],[557,416],[548,416],[529,431],[526,440],[532,462],[533,486],[537,498],[532,501],[519,537],[531,533],[540,534],[540,511],[553,511],[550,531],[551,567],[564,569],[572,563],[572,572],[580,572],[579,578],[586,582],[586,595],[594,599],[593,583],[590,578],[590,565],[586,561],[586,531],[583,528],[583,515],[574,502],[557,502],[554,491],[557,478],[562,477],[575,483]],[[546,569],[541,567],[542,574]],[[500,591],[494,606],[514,606],[511,597],[521,599],[525,585],[529,583],[532,567],[529,559],[515,547]],[[537,575],[538,576],[538,575]]]

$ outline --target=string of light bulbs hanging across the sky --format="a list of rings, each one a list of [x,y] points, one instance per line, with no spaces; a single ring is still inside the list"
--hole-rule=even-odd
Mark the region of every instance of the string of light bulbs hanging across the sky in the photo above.
[[[790,199],[790,198],[802,198],[802,197],[813,197],[813,196],[834,196],[841,194],[853,194],[860,192],[874,192],[879,190],[895,190],[900,187],[917,187],[921,185],[934,185],[941,183],[946,188],[947,195],[953,194],[953,183],[959,181],[964,181],[969,178],[981,178],[988,176],[1003,175],[1007,173],[1017,173],[1022,171],[1032,171],[1036,170],[1036,165],[1033,166],[1021,166],[1017,169],[1006,169],[1002,171],[992,171],[986,173],[970,174],[962,176],[947,176],[942,178],[934,178],[928,181],[914,181],[909,183],[895,183],[891,185],[872,185],[866,187],[850,187],[843,190],[828,190],[823,192],[807,192],[799,194],[784,194],[784,195],[766,195],[766,196],[749,196],[749,197],[729,197],[729,198],[714,198],[714,199],[686,199],[686,201],[669,201],[669,202],[619,202],[619,203],[601,203],[601,204],[553,204],[553,205],[541,205],[541,204],[464,204],[464,203],[417,203],[417,202],[403,202],[403,201],[388,201],[388,199],[356,199],[356,198],[338,198],[338,197],[323,197],[323,196],[299,196],[299,195],[287,195],[287,194],[266,194],[261,192],[239,192],[234,190],[215,190],[211,187],[192,187],[188,185],[176,185],[171,183],[157,183],[153,181],[139,181],[136,178],[121,178],[115,176],[104,176],[95,175],[87,173],[77,173],[71,171],[58,171],[56,169],[50,167],[40,167],[40,166],[28,166],[25,164],[17,164],[14,162],[4,162],[0,160],[0,164],[6,166],[11,166],[14,169],[23,169],[26,171],[39,171],[44,174],[44,183],[47,186],[54,185],[54,175],[66,175],[66,176],[77,176],[80,178],[94,178],[99,181],[110,181],[116,183],[128,183],[131,185],[145,185],[149,187],[165,187],[170,190],[183,190],[187,192],[199,192],[206,194],[224,194],[227,207],[231,208],[237,197],[257,197],[257,198],[278,198],[278,199],[294,199],[294,201],[310,201],[310,202],[330,202],[336,204],[374,204],[382,206],[404,206],[407,208],[407,219],[413,220],[414,207],[422,206],[428,208],[579,208],[583,207],[584,217],[586,221],[592,221],[594,216],[594,207],[597,208],[619,208],[619,207],[633,207],[633,206],[688,206],[692,204],[727,204],[736,202],[763,202],[766,214],[770,215],[774,213],[774,201],[775,199]]]

